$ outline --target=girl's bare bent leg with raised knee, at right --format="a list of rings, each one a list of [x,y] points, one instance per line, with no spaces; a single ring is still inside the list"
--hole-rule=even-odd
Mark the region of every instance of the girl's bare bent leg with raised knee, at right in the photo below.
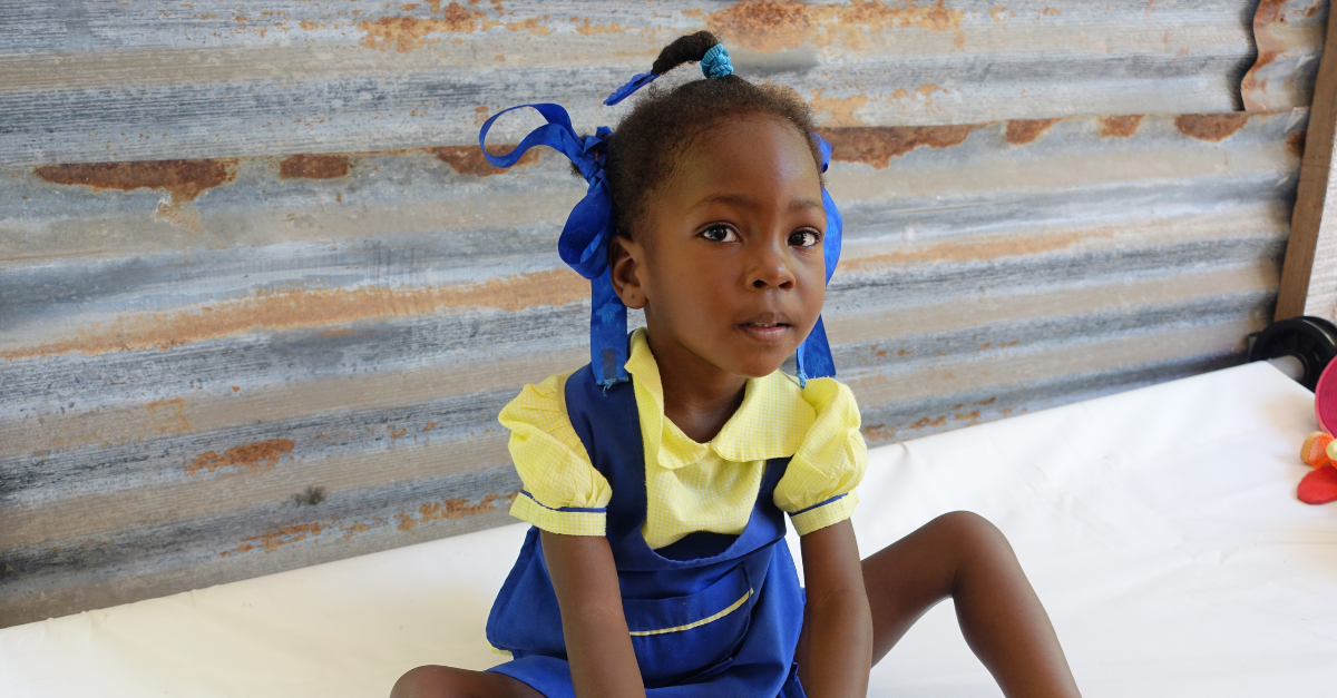
[[[873,615],[873,663],[951,596],[967,645],[1005,695],[1079,695],[1012,546],[981,516],[939,516],[866,558],[864,588]]]

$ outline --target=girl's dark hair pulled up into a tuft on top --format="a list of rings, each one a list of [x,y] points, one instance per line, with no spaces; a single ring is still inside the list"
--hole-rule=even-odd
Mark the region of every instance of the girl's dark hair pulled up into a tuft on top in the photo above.
[[[659,52],[650,72],[663,75],[683,63],[699,62],[718,43],[715,35],[705,31],[681,36]],[[753,84],[737,75],[693,80],[673,90],[648,86],[608,140],[604,167],[618,233],[631,237],[651,193],[673,174],[697,136],[721,122],[749,114],[765,114],[793,124],[804,134],[821,171],[821,152],[813,139],[813,111],[787,87]]]

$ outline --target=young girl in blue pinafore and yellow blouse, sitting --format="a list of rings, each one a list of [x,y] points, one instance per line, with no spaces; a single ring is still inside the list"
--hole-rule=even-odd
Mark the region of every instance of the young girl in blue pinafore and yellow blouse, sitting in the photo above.
[[[533,524],[487,627],[512,659],[418,667],[392,695],[865,695],[869,667],[948,596],[1007,695],[1078,695],[985,520],[948,513],[860,560],[866,451],[820,318],[840,254],[830,148],[793,91],[731,75],[709,32],[606,103],[689,62],[706,78],[650,90],[616,134],[580,138],[533,104],[550,123],[492,158],[548,144],[590,182],[559,249],[591,279],[592,361],[500,416],[524,484],[511,513]],[[647,325],[630,338],[626,308]]]

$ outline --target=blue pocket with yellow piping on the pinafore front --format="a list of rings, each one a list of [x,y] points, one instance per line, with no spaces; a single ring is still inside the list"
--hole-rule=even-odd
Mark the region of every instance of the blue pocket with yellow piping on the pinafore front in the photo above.
[[[726,666],[747,635],[757,591],[746,567],[738,564],[694,594],[623,599],[646,687],[673,685]]]

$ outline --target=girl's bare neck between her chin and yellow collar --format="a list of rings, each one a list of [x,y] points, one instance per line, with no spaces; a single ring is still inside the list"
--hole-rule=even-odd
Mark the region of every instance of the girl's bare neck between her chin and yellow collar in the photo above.
[[[664,417],[705,444],[719,433],[743,402],[747,378],[721,370],[678,342],[650,340],[664,394]]]

